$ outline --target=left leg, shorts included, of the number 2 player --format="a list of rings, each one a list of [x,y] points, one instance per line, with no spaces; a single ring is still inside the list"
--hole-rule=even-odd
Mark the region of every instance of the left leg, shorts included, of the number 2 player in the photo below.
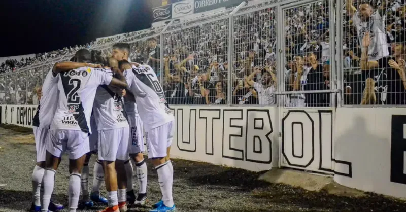
[[[48,211],[51,195],[54,189],[54,179],[62,153],[66,149],[66,132],[50,130],[46,139],[45,171],[42,179],[41,211]]]

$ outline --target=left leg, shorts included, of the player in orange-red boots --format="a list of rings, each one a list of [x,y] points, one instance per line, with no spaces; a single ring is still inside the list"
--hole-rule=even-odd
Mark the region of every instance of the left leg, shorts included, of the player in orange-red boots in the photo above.
[[[117,174],[115,160],[118,150],[117,129],[100,130],[98,135],[97,159],[103,164],[105,184],[107,190],[108,207],[103,212],[118,212]]]

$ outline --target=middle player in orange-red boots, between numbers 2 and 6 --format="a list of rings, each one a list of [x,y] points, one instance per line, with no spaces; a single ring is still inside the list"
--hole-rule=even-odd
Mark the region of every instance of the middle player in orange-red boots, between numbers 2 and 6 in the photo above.
[[[109,75],[113,75],[109,67],[118,68],[118,61],[109,58],[108,67],[103,70]],[[127,211],[127,180],[124,161],[128,159],[129,126],[121,97],[113,90],[107,85],[99,86],[93,104],[98,130],[97,159],[103,164],[106,190],[109,193],[109,207],[102,212]]]

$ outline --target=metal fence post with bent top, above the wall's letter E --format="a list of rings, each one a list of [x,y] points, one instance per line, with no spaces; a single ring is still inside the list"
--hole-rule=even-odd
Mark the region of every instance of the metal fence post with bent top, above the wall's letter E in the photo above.
[[[244,7],[247,3],[242,2],[239,6],[237,6],[229,15],[228,15],[228,77],[227,77],[227,105],[230,106],[232,104],[232,69],[234,64],[232,63],[232,44],[234,43],[234,36],[233,36],[233,28],[234,22],[233,17],[236,12],[238,12],[242,7]]]

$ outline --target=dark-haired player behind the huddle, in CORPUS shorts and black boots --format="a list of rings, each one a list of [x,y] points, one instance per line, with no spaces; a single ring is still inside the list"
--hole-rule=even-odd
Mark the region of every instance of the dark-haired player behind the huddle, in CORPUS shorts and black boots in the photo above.
[[[113,46],[112,56],[118,61],[128,60],[130,46],[126,43],[116,43]],[[131,65],[127,68],[136,68]],[[130,95],[130,93],[128,94]],[[139,183],[139,191],[137,199],[132,188],[133,169],[130,161],[125,162],[125,170],[127,173],[127,201],[130,205],[137,206],[145,205],[147,201],[147,176],[148,169],[144,160],[144,139],[143,139],[143,123],[137,110],[137,104],[128,100],[128,96],[124,97],[124,108],[128,116],[130,126],[129,135],[129,154],[136,165],[137,180]]]

